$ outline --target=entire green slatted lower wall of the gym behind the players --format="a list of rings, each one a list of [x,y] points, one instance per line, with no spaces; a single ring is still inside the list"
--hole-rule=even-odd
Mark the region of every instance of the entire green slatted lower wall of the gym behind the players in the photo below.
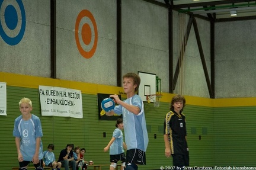
[[[54,143],[54,152],[58,158],[60,150],[65,149],[67,143],[73,143],[75,146],[85,147],[87,161],[93,160],[95,164],[109,163],[108,152],[104,153],[103,149],[111,139],[116,122],[98,119],[97,95],[82,94],[82,119],[41,116],[37,89],[7,86],[7,116],[0,117],[0,169],[18,166],[12,130],[15,118],[20,115],[18,102],[23,97],[32,100],[32,113],[40,117],[44,150],[49,143]],[[172,159],[164,155],[163,128],[168,111],[168,102],[161,102],[160,107],[153,107],[153,103],[145,102],[149,145],[146,152],[147,165],[143,169],[172,166]],[[256,107],[213,108],[186,105],[184,114],[190,166],[255,166],[255,111]],[[106,137],[103,137],[103,132]]]

